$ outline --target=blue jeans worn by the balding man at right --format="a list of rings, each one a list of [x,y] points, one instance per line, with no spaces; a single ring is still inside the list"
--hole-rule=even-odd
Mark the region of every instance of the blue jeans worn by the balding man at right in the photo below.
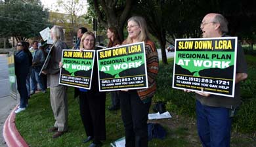
[[[198,135],[203,147],[229,147],[232,118],[230,109],[205,106],[196,101]]]

